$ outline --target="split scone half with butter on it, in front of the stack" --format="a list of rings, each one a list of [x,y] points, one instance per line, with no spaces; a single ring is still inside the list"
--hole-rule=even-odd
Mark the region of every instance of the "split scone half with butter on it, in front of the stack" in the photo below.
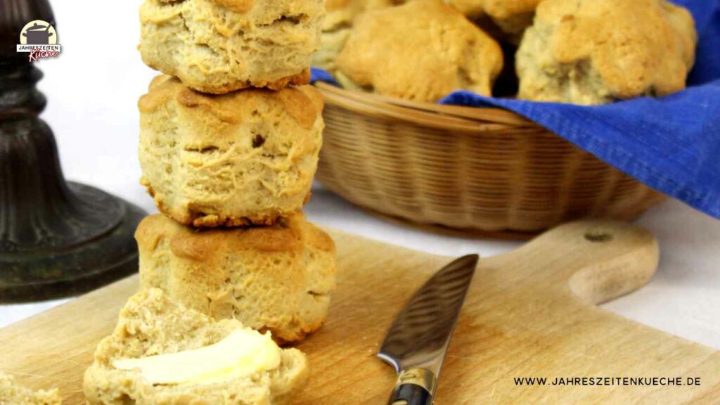
[[[307,380],[299,350],[146,290],[127,301],[84,376],[88,404],[285,404]]]

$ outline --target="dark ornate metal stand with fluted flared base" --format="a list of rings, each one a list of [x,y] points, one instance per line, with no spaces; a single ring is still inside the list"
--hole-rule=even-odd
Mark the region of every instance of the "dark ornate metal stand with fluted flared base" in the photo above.
[[[42,73],[17,53],[22,27],[54,25],[47,0],[0,0],[0,302],[76,295],[138,270],[140,208],[63,177],[38,118]]]

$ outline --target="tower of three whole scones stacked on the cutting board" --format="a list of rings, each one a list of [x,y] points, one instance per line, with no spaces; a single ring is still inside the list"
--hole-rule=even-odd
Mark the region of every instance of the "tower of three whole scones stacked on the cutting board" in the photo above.
[[[333,241],[305,220],[324,128],[310,59],[323,0],[148,0],[143,288],[297,342],[323,323]]]

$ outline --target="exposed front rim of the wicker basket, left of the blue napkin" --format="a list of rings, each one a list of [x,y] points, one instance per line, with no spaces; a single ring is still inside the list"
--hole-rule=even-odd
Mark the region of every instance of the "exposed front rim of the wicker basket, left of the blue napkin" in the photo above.
[[[343,89],[322,81],[313,84],[326,104],[342,107],[360,115],[400,120],[441,130],[538,129],[540,125],[515,112],[496,107],[413,102],[381,94]]]

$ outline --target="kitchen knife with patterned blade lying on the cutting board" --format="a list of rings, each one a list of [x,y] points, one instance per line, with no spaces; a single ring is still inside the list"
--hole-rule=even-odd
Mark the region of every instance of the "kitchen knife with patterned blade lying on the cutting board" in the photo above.
[[[389,405],[431,405],[457,317],[477,266],[477,254],[439,270],[387,332],[377,354],[400,375]]]

